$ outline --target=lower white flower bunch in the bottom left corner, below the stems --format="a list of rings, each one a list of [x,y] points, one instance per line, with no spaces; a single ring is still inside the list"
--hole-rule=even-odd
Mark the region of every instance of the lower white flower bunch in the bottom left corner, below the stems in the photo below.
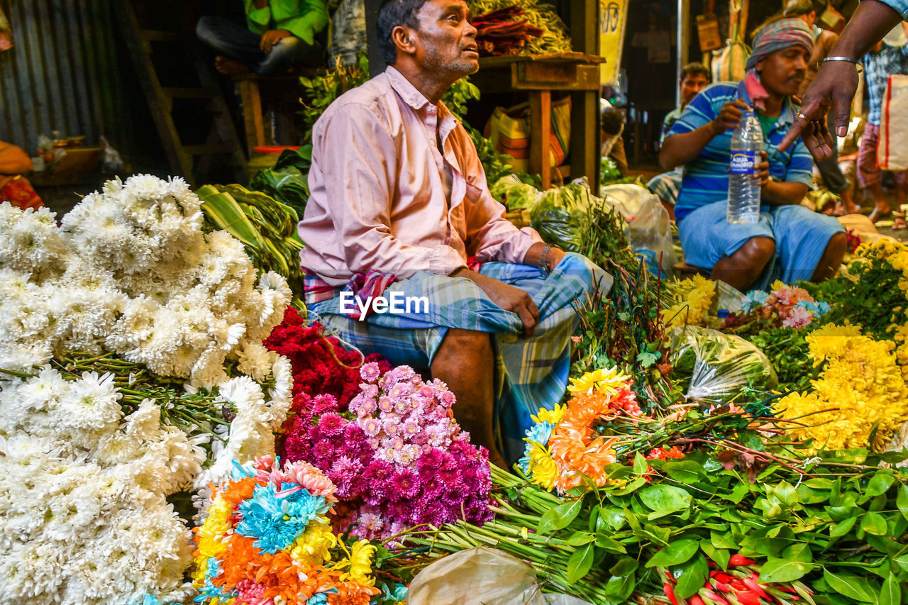
[[[0,388],[0,602],[190,594],[191,532],[164,496],[201,472],[201,440],[149,400],[123,417],[110,374],[44,367]]]

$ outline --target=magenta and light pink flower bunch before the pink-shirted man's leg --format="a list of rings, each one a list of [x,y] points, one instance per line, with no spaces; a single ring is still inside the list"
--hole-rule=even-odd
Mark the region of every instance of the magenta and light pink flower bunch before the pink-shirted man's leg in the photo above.
[[[409,366],[360,369],[361,392],[347,411],[333,395],[298,395],[288,423],[288,460],[328,475],[341,502],[341,531],[372,539],[422,523],[489,520],[489,452],[469,442],[444,382]]]

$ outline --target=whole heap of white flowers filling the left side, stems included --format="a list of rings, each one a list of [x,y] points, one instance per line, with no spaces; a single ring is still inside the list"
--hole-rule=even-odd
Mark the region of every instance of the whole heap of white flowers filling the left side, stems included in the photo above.
[[[59,226],[0,204],[0,600],[189,594],[165,497],[273,454],[292,375],[262,340],[290,300],[181,179],[108,182]]]

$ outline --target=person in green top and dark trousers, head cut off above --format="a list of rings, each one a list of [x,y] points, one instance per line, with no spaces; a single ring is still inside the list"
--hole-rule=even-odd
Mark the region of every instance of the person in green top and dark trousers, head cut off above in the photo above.
[[[328,25],[324,0],[243,0],[246,26],[218,15],[199,19],[195,33],[218,55],[222,74],[283,74],[293,64],[321,64],[316,36]]]

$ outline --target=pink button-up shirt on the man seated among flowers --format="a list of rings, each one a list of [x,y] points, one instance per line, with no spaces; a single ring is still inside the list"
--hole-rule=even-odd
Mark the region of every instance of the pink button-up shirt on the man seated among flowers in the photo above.
[[[542,241],[505,219],[457,118],[393,67],[316,122],[309,186],[301,266],[332,286],[370,269],[447,275],[473,255],[521,263]]]

